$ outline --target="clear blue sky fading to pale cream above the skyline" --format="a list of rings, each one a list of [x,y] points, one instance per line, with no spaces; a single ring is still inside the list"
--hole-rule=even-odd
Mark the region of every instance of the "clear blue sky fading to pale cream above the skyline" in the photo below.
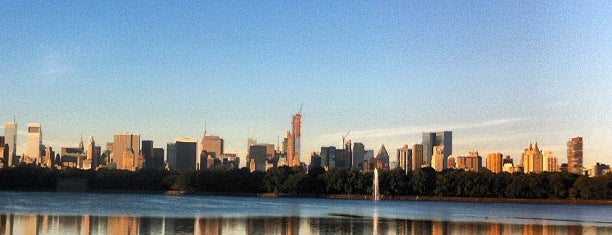
[[[58,150],[206,127],[245,157],[303,104],[304,162],[349,131],[394,155],[448,130],[456,156],[537,141],[566,162],[582,136],[586,165],[612,163],[609,1],[11,1],[0,42],[18,154],[39,122]]]

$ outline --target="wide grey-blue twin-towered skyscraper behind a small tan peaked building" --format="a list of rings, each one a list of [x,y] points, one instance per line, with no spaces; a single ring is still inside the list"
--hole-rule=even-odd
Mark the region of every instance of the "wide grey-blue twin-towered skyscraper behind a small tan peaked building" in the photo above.
[[[423,133],[423,161],[424,164],[431,165],[431,157],[434,154],[434,146],[444,146],[442,166],[446,168],[446,159],[453,154],[453,133],[452,131],[425,132]]]

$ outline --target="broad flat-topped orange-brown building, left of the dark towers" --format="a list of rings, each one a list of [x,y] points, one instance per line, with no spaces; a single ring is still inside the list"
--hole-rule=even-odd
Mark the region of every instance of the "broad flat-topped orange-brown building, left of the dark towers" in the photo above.
[[[134,163],[134,161],[137,161],[137,157],[139,155],[140,155],[140,135],[139,134],[120,133],[120,134],[114,135],[113,161],[117,164],[117,169],[132,170],[133,167],[136,167],[138,165]],[[124,156],[130,159],[123,159]],[[129,166],[127,166],[126,163],[128,163]]]

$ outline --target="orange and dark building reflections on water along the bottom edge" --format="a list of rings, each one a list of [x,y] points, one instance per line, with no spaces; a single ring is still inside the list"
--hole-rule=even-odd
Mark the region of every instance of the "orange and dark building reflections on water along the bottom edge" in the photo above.
[[[332,215],[301,217],[152,218],[0,215],[0,234],[612,234],[612,227],[416,221]]]

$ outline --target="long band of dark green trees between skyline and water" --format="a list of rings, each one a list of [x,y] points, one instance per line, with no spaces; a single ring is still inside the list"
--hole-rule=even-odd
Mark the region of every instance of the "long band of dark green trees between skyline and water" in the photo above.
[[[278,167],[267,172],[248,168],[216,167],[203,171],[137,171],[100,169],[56,170],[33,165],[0,169],[0,190],[46,190],[57,188],[62,178],[87,179],[90,190],[168,191],[193,193],[258,194],[296,196],[331,194],[371,195],[373,174],[355,169]],[[384,197],[478,197],[516,199],[612,199],[612,174],[586,177],[567,172],[499,173],[422,168],[380,171]]]

